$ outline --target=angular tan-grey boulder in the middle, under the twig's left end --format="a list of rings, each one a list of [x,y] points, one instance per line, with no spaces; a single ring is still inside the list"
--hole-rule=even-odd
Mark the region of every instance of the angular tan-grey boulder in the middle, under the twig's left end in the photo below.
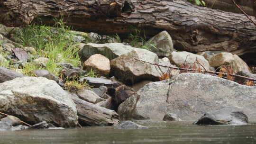
[[[148,50],[137,49],[111,60],[110,66],[111,72],[120,81],[134,84],[143,80],[159,80],[161,71],[150,63],[159,63],[158,56]]]

